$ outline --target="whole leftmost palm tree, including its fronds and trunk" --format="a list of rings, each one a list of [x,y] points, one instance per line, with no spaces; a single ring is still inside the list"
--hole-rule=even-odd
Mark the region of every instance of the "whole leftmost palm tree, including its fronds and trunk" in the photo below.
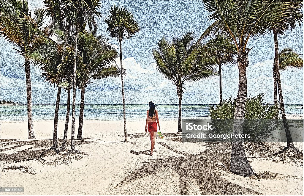
[[[27,122],[29,129],[29,139],[35,139],[32,117],[32,87],[30,76],[30,62],[27,52],[32,46],[33,39],[37,36],[39,29],[43,27],[44,10],[35,9],[34,17],[31,17],[28,2],[25,1],[1,1],[0,2],[0,30],[1,36],[5,37],[18,49],[13,48],[21,54],[24,59],[26,76],[26,97],[27,97]]]

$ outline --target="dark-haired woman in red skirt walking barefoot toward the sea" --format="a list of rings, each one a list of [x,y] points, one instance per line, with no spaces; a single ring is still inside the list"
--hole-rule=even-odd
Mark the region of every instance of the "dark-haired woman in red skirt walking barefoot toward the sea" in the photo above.
[[[150,107],[150,109],[147,110],[147,119],[146,119],[145,131],[147,132],[147,127],[148,127],[148,131],[149,131],[149,134],[150,134],[150,141],[151,141],[150,155],[152,156],[154,145],[155,145],[155,136],[156,136],[156,131],[157,131],[157,124],[158,124],[159,131],[161,131],[161,127],[159,126],[158,111],[155,110],[155,108],[157,108],[157,107],[155,106],[155,104],[152,101],[149,102],[149,107]],[[156,122],[157,122],[157,124],[156,124]]]

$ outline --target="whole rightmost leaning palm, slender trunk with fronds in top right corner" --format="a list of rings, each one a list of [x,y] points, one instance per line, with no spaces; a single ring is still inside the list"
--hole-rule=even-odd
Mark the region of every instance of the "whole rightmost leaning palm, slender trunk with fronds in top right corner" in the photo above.
[[[286,120],[286,114],[285,114],[285,107],[284,107],[284,99],[282,94],[282,86],[281,86],[281,77],[280,77],[280,68],[279,68],[279,54],[278,54],[278,35],[283,35],[285,31],[288,29],[295,29],[296,22],[299,23],[299,25],[302,23],[303,14],[302,14],[302,8],[303,8],[303,1],[292,1],[292,5],[288,7],[288,9],[285,11],[286,16],[285,20],[279,23],[280,26],[273,26],[271,28],[273,35],[274,35],[274,45],[275,45],[275,60],[273,63],[273,77],[274,77],[274,92],[277,91],[278,88],[278,95],[280,100],[280,108],[281,108],[281,114],[282,114],[282,120],[285,128],[285,133],[287,137],[287,149],[294,148],[292,137],[290,134],[290,130],[288,127],[288,123]],[[274,94],[274,101],[275,104],[278,103],[277,93]]]

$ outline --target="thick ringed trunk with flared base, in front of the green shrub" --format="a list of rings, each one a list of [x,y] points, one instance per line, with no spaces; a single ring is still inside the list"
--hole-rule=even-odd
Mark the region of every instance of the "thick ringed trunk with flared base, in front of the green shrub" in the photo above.
[[[240,49],[241,50],[241,49]],[[246,67],[248,66],[247,54],[239,52],[237,57],[239,68],[239,90],[237,93],[236,107],[233,122],[233,133],[243,134],[244,128],[244,114],[247,98],[247,76]],[[236,138],[232,141],[232,152],[230,161],[230,171],[240,176],[250,177],[253,171],[247,160],[244,139]]]

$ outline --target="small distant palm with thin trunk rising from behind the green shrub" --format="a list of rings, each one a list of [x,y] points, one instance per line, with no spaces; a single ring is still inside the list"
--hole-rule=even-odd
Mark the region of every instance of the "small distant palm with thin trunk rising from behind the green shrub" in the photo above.
[[[215,55],[219,66],[219,103],[222,103],[222,65],[228,63],[235,63],[236,60],[233,57],[237,54],[237,47],[231,43],[231,38],[216,34],[211,40],[206,43],[207,51]]]

